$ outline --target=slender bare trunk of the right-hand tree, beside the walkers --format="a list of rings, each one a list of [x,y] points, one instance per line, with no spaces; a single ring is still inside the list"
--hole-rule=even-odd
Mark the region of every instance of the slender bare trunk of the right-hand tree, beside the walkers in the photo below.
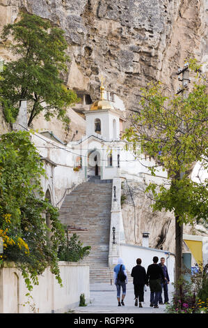
[[[183,224],[179,225],[179,216],[175,216],[175,281],[182,275]]]

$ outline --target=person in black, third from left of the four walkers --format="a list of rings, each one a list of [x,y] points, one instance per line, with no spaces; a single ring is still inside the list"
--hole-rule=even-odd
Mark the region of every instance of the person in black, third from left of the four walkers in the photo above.
[[[159,292],[161,292],[161,280],[165,283],[163,270],[157,264],[159,258],[154,256],[153,264],[147,267],[146,285],[150,284],[150,306],[158,308]]]

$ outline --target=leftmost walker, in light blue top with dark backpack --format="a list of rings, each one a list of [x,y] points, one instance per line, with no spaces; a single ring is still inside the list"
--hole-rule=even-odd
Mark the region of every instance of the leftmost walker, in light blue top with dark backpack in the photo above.
[[[118,278],[118,272],[120,271],[120,266],[122,271],[124,272],[125,276],[126,276],[126,279],[125,281],[120,281],[119,278]],[[115,283],[115,286],[116,286],[116,289],[117,289],[117,299],[118,299],[118,306],[125,306],[124,304],[124,299],[125,299],[125,296],[126,296],[126,284],[128,282],[128,277],[127,277],[127,271],[126,271],[126,268],[125,268],[125,264],[123,263],[123,260],[122,258],[118,258],[118,264],[115,265],[114,269],[113,269],[113,278],[114,278],[114,283]],[[121,299],[121,302],[120,302],[120,288],[122,288],[122,299]]]

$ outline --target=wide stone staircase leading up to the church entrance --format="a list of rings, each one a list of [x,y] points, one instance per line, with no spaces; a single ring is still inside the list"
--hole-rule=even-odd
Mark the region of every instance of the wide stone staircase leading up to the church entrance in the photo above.
[[[111,197],[112,180],[90,177],[66,195],[59,210],[61,223],[72,228],[70,234],[76,233],[83,246],[91,246],[84,260],[90,266],[90,283],[113,284],[113,270],[109,268]]]

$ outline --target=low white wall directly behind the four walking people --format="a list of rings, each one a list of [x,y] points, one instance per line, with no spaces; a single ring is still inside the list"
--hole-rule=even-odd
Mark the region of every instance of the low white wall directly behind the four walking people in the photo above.
[[[169,256],[170,255],[170,256]],[[175,274],[175,255],[168,253],[168,251],[161,251],[154,248],[145,248],[143,246],[134,246],[129,244],[120,244],[120,257],[124,260],[124,264],[131,273],[131,269],[136,265],[136,259],[141,258],[141,265],[145,267],[147,271],[148,265],[152,264],[153,257],[166,259],[166,267],[168,268],[168,274],[170,277],[170,283],[174,283]]]

